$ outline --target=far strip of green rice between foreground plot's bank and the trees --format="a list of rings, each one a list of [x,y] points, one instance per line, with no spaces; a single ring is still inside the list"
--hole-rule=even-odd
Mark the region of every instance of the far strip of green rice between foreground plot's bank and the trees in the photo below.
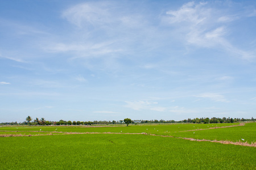
[[[221,126],[232,126],[234,124],[154,124],[154,125],[131,125],[131,126],[19,126],[4,127],[1,130],[10,131],[62,131],[80,133],[147,133],[158,135],[170,135],[185,130],[209,129]]]

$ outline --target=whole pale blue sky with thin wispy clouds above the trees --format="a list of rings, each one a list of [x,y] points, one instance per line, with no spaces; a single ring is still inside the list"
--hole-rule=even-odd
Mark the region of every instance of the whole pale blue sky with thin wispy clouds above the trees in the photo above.
[[[255,1],[1,1],[0,122],[256,117]]]

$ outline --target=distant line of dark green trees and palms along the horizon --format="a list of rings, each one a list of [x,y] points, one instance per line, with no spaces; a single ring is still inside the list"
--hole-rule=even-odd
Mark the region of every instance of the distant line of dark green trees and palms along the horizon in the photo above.
[[[128,119],[128,120],[127,120]],[[32,120],[31,116],[26,117],[24,122],[3,122],[0,125],[110,125],[110,124],[166,124],[166,123],[193,123],[193,124],[222,124],[222,123],[233,123],[233,122],[243,122],[243,121],[254,121],[253,117],[249,118],[188,118],[187,120],[174,121],[174,120],[130,120],[130,118],[125,118],[119,121],[47,121],[45,118],[35,118]],[[128,123],[128,124],[127,124]]]

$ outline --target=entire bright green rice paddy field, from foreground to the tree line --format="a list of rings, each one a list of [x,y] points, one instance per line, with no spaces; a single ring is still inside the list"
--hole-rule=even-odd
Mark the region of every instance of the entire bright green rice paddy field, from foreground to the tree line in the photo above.
[[[255,169],[256,147],[183,139],[256,141],[255,122],[230,125],[2,126],[25,136],[0,138],[1,169]]]

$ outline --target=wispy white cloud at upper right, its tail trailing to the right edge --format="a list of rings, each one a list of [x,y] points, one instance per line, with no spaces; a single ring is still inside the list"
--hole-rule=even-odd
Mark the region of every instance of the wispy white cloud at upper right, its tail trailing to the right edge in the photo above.
[[[247,16],[226,16],[224,11],[216,10],[208,3],[188,2],[176,11],[167,11],[163,22],[173,25],[188,45],[225,49],[226,52],[243,59],[252,59],[255,58],[255,51],[240,49],[226,38],[230,29],[225,23],[241,17]]]

